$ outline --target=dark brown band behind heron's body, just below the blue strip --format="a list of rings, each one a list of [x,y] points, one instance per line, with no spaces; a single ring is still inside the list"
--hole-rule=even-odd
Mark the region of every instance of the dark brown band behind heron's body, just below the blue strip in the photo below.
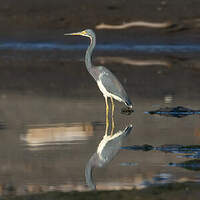
[[[58,51],[57,53],[54,50],[16,53],[10,51],[5,55],[2,53],[0,55],[0,90],[2,93],[8,92],[9,94],[13,91],[19,94],[59,96],[67,99],[81,97],[95,100],[99,98],[101,93],[84,66],[84,52],[77,51],[75,56],[70,51],[60,53]],[[123,57],[123,54],[119,52],[114,53],[113,59],[116,62],[109,62],[109,59],[107,61],[106,56],[100,60],[116,74],[133,99],[159,99],[164,94],[176,94],[178,99],[185,98],[185,100],[193,101],[200,93],[200,88],[196,87],[200,84],[200,60],[197,56],[187,58],[187,56],[180,57],[175,54],[173,57],[162,54],[160,58],[160,55],[147,55],[145,56],[147,62],[150,60],[151,63],[152,59],[159,62],[163,59],[166,65],[153,63],[149,66],[138,66],[120,63],[121,61],[115,58],[119,55],[124,59],[129,58],[134,63],[138,60],[144,61],[143,57],[128,57],[127,55]],[[97,54],[103,56],[108,52],[101,51]],[[8,56],[8,59],[5,56]],[[76,59],[81,60],[76,61]],[[94,62],[101,64],[98,56]]]

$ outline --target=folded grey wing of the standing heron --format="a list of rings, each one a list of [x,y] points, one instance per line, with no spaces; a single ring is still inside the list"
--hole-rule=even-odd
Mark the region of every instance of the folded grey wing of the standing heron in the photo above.
[[[98,80],[102,82],[102,84],[109,93],[118,96],[124,101],[129,99],[123,86],[111,71],[109,71],[103,66],[98,67],[98,71],[100,71]]]

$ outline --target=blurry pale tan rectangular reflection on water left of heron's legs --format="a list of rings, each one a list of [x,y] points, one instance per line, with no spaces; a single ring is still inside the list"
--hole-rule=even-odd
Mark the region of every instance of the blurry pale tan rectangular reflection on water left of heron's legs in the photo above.
[[[92,123],[46,124],[29,126],[21,135],[21,141],[28,147],[37,149],[40,146],[62,145],[87,140],[93,135]]]

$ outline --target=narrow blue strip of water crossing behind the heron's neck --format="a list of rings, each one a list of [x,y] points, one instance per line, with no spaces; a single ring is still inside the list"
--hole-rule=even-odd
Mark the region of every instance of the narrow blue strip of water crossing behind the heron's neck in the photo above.
[[[0,49],[3,50],[86,50],[86,44],[61,44],[61,43],[44,43],[44,42],[2,42]],[[139,51],[145,53],[187,53],[200,52],[199,44],[99,44],[96,46],[97,50],[102,51]]]

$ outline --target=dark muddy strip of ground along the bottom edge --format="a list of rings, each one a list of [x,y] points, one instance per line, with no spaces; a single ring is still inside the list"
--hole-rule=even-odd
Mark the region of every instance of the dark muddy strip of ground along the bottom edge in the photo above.
[[[92,191],[92,192],[49,192],[44,194],[5,197],[2,200],[28,200],[28,199],[120,199],[120,200],[192,200],[198,199],[200,185],[194,183],[167,184],[165,186],[151,186],[142,190],[130,191]]]

